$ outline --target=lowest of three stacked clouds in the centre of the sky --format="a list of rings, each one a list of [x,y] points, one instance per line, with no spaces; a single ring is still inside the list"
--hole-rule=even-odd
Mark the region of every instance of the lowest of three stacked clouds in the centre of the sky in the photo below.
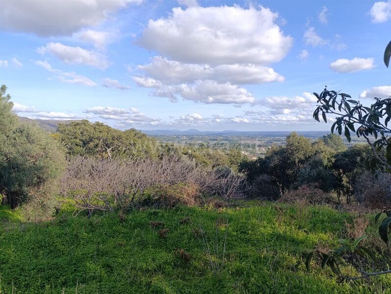
[[[185,100],[201,103],[244,104],[253,103],[254,96],[244,88],[230,83],[219,84],[212,80],[198,80],[194,85],[165,86],[154,92],[155,96],[176,101],[176,95]]]

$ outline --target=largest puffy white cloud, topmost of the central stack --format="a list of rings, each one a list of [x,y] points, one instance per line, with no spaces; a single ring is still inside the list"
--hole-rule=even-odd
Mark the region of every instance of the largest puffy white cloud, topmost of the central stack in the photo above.
[[[265,65],[292,46],[277,18],[264,7],[178,7],[168,18],[150,20],[138,44],[185,63]]]

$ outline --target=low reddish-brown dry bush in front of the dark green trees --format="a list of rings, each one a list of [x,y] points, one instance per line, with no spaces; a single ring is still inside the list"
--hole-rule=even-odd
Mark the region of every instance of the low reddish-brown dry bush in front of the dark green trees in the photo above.
[[[297,188],[297,190],[286,191],[278,202],[296,203],[303,202],[303,200],[312,205],[336,203],[328,194],[310,185],[303,185]]]

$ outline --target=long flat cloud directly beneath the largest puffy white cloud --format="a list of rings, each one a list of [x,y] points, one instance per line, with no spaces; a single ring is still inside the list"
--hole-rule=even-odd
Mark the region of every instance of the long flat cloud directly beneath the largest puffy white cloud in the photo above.
[[[155,56],[150,64],[138,66],[138,69],[164,84],[192,83],[198,79],[212,79],[220,83],[233,84],[284,81],[282,75],[266,66],[227,64],[212,67],[207,64],[181,63],[161,56]]]

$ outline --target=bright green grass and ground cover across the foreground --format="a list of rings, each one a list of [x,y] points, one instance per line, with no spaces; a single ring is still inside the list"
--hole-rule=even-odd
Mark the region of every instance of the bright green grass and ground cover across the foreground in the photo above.
[[[53,221],[24,223],[0,206],[0,293],[375,293],[391,289],[391,277],[338,283],[328,270],[308,273],[304,254],[318,241],[337,245],[349,214],[309,208],[298,229],[293,206],[268,204],[241,209],[131,212],[121,222],[115,213],[91,219],[68,211]],[[180,224],[189,217],[190,223]],[[228,218],[225,262],[222,262]],[[150,221],[169,228],[160,238]],[[214,263],[210,268],[202,238],[205,231]],[[369,228],[374,230],[375,228]],[[177,249],[191,255],[185,261]],[[212,252],[213,253],[213,252]],[[370,286],[372,285],[372,286]],[[372,287],[372,288],[371,288]],[[63,292],[62,292],[63,291]],[[383,293],[387,293],[383,292]],[[390,293],[390,292],[388,292]]]

